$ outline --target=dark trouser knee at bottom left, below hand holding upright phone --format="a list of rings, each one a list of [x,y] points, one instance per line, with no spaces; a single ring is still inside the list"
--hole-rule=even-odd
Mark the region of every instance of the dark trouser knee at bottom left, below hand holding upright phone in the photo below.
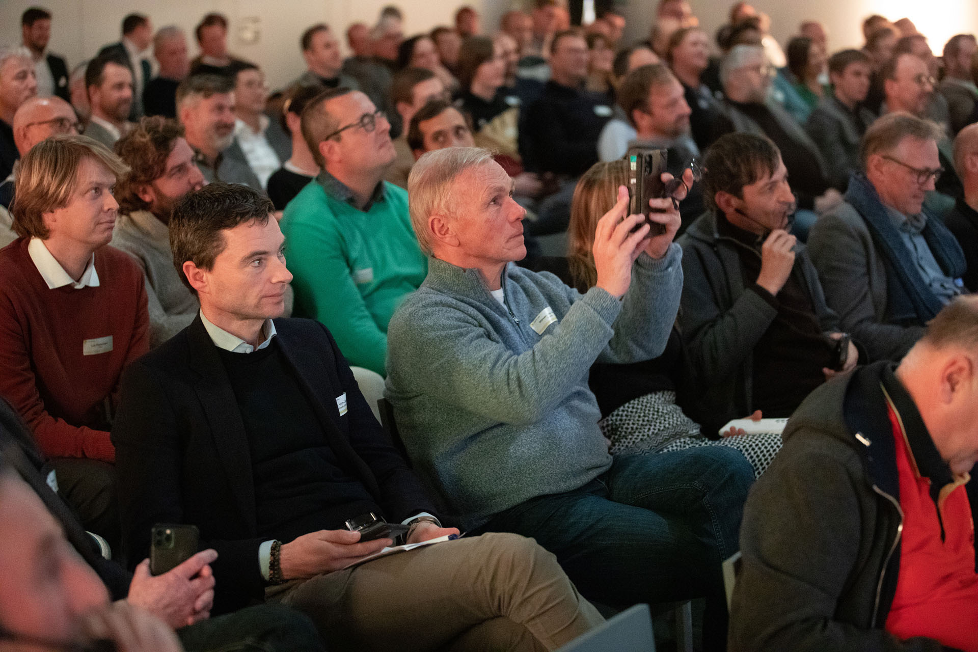
[[[247,607],[177,630],[187,652],[324,652],[308,616],[281,604]]]

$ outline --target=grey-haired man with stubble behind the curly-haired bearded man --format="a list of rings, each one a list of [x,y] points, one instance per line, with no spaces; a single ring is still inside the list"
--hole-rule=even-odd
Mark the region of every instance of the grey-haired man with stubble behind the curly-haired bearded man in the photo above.
[[[258,177],[241,157],[225,155],[235,140],[238,119],[234,90],[232,77],[191,75],[177,87],[177,117],[207,183],[243,184],[263,192]]]

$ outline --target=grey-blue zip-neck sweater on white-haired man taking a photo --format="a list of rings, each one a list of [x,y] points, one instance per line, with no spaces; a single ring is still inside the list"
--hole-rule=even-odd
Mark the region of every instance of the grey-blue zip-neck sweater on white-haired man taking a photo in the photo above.
[[[621,301],[509,264],[505,307],[477,270],[428,261],[387,329],[385,395],[408,454],[464,527],[607,470],[588,369],[662,353],[681,259],[676,244],[660,260],[643,253]],[[554,323],[542,317],[548,308]]]

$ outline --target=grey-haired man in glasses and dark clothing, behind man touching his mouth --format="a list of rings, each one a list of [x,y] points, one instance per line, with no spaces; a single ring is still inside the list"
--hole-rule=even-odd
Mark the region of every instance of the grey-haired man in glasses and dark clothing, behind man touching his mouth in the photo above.
[[[774,141],[798,196],[801,210],[795,218],[795,229],[804,240],[815,221],[812,211],[821,215],[838,205],[842,196],[828,186],[828,167],[819,147],[785,109],[769,98],[772,73],[762,47],[733,46],[720,65],[727,116],[718,119],[717,136],[739,131]]]

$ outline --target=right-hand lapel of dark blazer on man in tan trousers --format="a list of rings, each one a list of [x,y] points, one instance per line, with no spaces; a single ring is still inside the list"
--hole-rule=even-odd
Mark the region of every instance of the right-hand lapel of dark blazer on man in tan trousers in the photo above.
[[[345,462],[347,471],[356,474],[361,482],[364,483],[367,491],[379,502],[381,496],[377,477],[375,477],[374,472],[367,465],[367,462],[361,456],[357,455],[357,452],[350,446],[349,438],[344,436],[336,426],[336,419],[339,417],[339,412],[335,404],[332,402],[327,404],[323,400],[324,393],[329,391],[332,383],[331,378],[323,372],[321,364],[322,352],[307,349],[302,340],[291,338],[288,334],[283,337],[282,335],[284,333],[282,331],[285,330],[288,333],[289,326],[285,326],[284,328],[280,327],[279,320],[276,320],[275,327],[279,332],[279,335],[277,335],[279,338],[279,347],[295,371],[295,377],[299,385],[301,385],[306,397],[308,397],[309,402],[312,404],[313,411],[323,426],[323,432],[326,435],[327,442],[333,449],[333,453]],[[323,340],[317,340],[317,344],[319,346],[329,346]],[[338,383],[338,378],[335,380]]]

